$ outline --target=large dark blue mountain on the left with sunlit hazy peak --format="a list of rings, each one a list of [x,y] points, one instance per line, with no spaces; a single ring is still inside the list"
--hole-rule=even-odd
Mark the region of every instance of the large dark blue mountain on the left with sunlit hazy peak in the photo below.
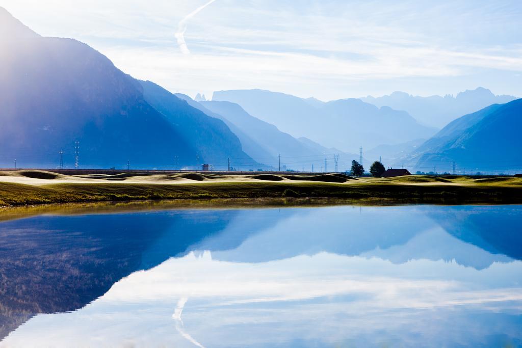
[[[142,85],[88,45],[41,37],[3,8],[0,23],[0,165],[56,167],[63,150],[70,167],[77,146],[80,167],[253,162],[222,121]]]

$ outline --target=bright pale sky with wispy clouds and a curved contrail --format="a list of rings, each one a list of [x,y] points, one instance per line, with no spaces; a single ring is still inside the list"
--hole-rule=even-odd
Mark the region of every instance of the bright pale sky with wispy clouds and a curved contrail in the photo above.
[[[194,97],[268,89],[321,100],[522,96],[522,2],[0,0],[45,36],[74,38],[132,76]]]

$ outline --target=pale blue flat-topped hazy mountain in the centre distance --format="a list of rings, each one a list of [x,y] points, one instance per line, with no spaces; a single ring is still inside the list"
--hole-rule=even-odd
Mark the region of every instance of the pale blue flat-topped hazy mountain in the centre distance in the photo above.
[[[323,103],[264,90],[234,90],[214,92],[212,100],[237,103],[294,137],[306,137],[346,152],[355,152],[360,146],[372,148],[428,138],[436,132],[404,111],[379,109],[358,99]]]

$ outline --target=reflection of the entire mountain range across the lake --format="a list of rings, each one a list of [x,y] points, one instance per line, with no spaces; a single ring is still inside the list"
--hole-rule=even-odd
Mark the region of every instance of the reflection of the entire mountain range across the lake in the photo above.
[[[521,210],[345,206],[41,216],[2,222],[0,338],[34,314],[81,308],[128,274],[191,250],[211,250],[213,259],[236,262],[328,251],[396,263],[455,260],[483,269],[494,261],[521,258]]]

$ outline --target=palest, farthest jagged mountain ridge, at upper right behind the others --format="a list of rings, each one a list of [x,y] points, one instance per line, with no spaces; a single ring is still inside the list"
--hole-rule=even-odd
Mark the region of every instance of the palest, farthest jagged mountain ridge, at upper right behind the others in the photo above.
[[[360,99],[379,107],[389,106],[395,110],[405,110],[425,125],[444,127],[461,115],[478,111],[491,104],[507,103],[515,100],[516,97],[495,95],[489,89],[479,87],[471,91],[460,92],[456,97],[453,95],[419,97],[405,92],[393,92],[384,97],[369,96]]]

